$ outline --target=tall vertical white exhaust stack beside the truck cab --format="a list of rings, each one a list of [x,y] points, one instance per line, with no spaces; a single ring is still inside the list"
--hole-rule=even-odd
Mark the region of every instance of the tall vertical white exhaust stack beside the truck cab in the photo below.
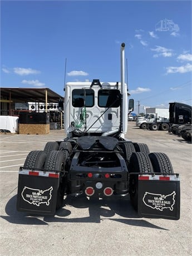
[[[127,92],[125,90],[125,43],[121,43],[121,132],[127,132]]]

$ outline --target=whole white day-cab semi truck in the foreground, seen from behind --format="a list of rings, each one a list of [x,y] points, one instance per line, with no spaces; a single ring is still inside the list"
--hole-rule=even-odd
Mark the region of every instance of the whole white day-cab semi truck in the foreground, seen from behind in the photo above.
[[[68,195],[130,196],[139,216],[180,218],[179,174],[169,157],[125,139],[134,101],[127,107],[124,49],[122,43],[121,82],[66,83],[67,136],[29,152],[19,169],[18,211],[54,215]]]

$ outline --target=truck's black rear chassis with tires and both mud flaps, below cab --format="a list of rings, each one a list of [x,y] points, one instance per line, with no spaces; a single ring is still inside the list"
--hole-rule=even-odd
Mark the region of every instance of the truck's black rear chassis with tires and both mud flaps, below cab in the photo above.
[[[139,216],[179,219],[179,175],[164,153],[113,137],[66,138],[29,153],[19,171],[17,209],[54,215],[67,195],[127,194]]]

